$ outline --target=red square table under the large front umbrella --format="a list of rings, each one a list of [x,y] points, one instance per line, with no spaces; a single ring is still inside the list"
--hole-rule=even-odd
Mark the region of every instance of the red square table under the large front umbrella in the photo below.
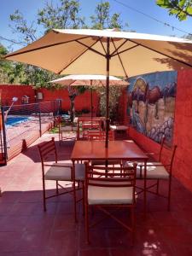
[[[132,140],[109,141],[105,148],[105,141],[76,141],[71,160],[74,163],[82,160],[127,160],[144,163],[144,212],[146,212],[146,172],[148,156]]]

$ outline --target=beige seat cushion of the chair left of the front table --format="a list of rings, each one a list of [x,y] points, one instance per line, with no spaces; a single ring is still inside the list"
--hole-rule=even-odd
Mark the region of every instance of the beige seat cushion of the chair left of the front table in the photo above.
[[[69,166],[69,167],[62,167]],[[49,170],[45,173],[44,179],[46,180],[60,180],[60,181],[72,181],[72,172],[70,163],[55,163],[54,166],[50,166]],[[84,180],[84,165],[75,164],[75,180]]]

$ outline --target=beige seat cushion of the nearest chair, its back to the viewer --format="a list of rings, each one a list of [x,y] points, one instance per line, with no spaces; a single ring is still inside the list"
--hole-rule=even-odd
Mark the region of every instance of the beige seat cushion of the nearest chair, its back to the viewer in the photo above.
[[[96,204],[131,204],[132,187],[98,187],[88,186],[88,203],[89,205]]]

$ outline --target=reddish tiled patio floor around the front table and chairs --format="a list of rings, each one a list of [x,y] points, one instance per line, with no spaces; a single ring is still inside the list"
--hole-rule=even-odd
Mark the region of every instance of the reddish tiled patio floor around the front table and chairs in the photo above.
[[[25,154],[0,168],[0,256],[192,255],[192,194],[174,178],[171,212],[166,211],[164,199],[148,195],[148,215],[144,219],[143,198],[139,197],[135,247],[130,246],[130,234],[108,218],[90,230],[91,244],[86,245],[82,207],[78,207],[79,223],[75,224],[71,195],[50,200],[44,212],[36,145],[50,137],[44,134]],[[57,146],[62,159],[69,160],[73,142]],[[53,184],[49,183],[51,189]],[[92,218],[101,215],[96,211]],[[128,214],[122,211],[119,217]]]

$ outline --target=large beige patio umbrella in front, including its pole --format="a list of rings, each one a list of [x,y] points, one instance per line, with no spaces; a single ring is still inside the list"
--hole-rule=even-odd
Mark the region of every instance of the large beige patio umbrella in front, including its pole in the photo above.
[[[55,29],[5,59],[58,74],[104,74],[108,119],[109,73],[131,77],[192,67],[192,41],[136,32]],[[106,147],[108,147],[108,125]]]

